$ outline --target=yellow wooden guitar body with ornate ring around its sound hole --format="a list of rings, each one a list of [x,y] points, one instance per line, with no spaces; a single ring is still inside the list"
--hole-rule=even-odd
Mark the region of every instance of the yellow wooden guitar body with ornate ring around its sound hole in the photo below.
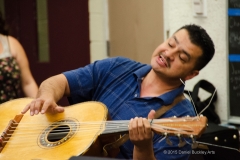
[[[9,121],[20,114],[32,100],[22,98],[0,105],[0,134],[6,130]],[[54,115],[30,116],[27,112],[2,148],[0,159],[69,159],[93,153],[98,156],[101,148],[98,147],[97,139],[104,130],[106,120],[107,108],[99,102],[71,105],[63,113]],[[99,123],[84,123],[95,121]],[[50,139],[49,133],[55,133],[62,127],[68,129],[64,138]]]

